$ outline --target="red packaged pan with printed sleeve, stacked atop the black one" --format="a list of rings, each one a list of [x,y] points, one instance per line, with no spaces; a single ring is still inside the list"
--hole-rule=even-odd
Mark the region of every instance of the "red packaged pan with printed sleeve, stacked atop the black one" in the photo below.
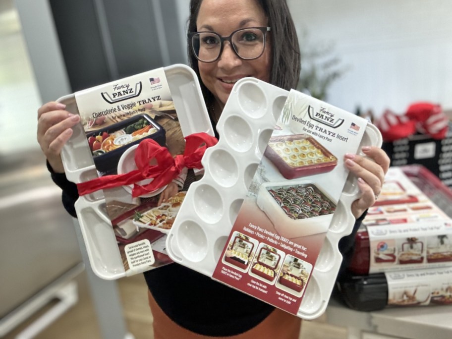
[[[451,219],[402,169],[392,167],[386,174],[380,197],[356,234],[350,272],[452,266]]]

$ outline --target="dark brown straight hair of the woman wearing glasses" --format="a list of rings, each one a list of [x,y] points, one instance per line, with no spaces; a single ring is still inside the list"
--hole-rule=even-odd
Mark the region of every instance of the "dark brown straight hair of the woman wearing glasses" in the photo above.
[[[272,69],[270,83],[285,90],[295,88],[300,75],[300,47],[293,24],[292,16],[286,0],[255,0],[259,3],[268,18],[268,25],[272,28]],[[190,16],[188,18],[188,33],[196,32],[196,19],[202,0],[190,0]],[[190,66],[198,75],[208,108],[213,104],[212,93],[204,86],[199,76],[198,60],[190,50],[188,42],[188,60]]]

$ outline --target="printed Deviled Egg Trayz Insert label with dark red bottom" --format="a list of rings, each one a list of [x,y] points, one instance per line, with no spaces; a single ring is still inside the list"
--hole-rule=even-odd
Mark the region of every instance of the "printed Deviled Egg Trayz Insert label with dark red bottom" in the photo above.
[[[292,90],[213,278],[296,314],[366,126]]]

